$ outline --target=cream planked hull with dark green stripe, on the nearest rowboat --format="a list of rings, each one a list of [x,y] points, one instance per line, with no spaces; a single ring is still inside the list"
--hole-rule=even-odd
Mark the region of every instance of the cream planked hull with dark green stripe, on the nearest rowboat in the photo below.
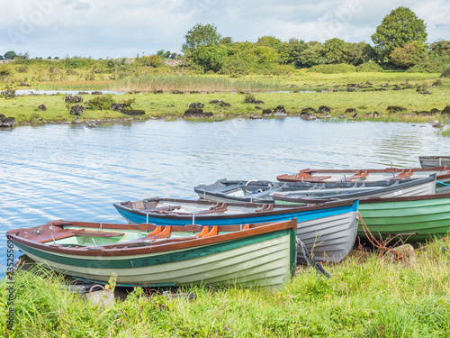
[[[247,230],[249,233],[238,238],[230,234],[223,241],[211,237],[193,240],[202,241],[199,245],[180,248],[179,244],[173,244],[173,250],[156,252],[150,252],[154,248],[138,249],[139,252],[123,248],[96,252],[78,249],[77,253],[72,248],[30,245],[17,238],[14,244],[32,260],[50,269],[98,283],[108,282],[115,273],[117,285],[127,287],[280,288],[293,277],[296,263],[295,222],[289,224],[290,227],[265,233],[257,228]],[[220,236],[227,235],[215,237]]]

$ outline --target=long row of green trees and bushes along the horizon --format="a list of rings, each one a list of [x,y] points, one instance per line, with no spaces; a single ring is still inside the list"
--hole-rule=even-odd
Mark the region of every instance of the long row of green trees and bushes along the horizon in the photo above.
[[[204,72],[247,74],[283,66],[311,68],[348,64],[365,69],[411,69],[442,72],[450,63],[450,41],[427,44],[427,25],[407,7],[398,7],[383,19],[372,35],[374,46],[365,41],[338,38],[320,41],[274,36],[257,42],[238,42],[222,37],[213,24],[197,23],[186,32],[183,45],[186,64]]]

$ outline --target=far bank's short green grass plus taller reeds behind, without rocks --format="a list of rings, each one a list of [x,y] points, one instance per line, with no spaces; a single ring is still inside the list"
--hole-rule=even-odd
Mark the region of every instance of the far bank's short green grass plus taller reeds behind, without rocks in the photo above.
[[[146,112],[139,118],[149,117],[177,118],[184,115],[187,106],[194,102],[205,104],[204,112],[214,114],[214,119],[247,117],[262,114],[264,109],[273,110],[284,105],[288,115],[299,115],[302,109],[318,109],[327,105],[331,117],[353,118],[357,121],[383,121],[427,123],[438,120],[446,123],[446,114],[424,114],[431,109],[442,111],[450,105],[450,79],[436,78],[437,75],[411,73],[345,73],[318,74],[299,70],[289,77],[244,77],[227,78],[223,76],[180,76],[147,75],[124,78],[116,81],[79,81],[61,83],[40,82],[39,89],[98,90],[120,89],[125,92],[142,91],[141,95],[115,95],[116,103],[135,98],[134,109]],[[417,87],[425,88],[431,94],[419,94]],[[19,89],[21,87],[16,87]],[[26,88],[26,87],[25,87]],[[280,91],[280,89],[283,89]],[[163,94],[154,94],[163,90]],[[174,90],[184,94],[172,94]],[[273,92],[274,90],[278,90]],[[190,94],[190,92],[195,92]],[[197,93],[201,92],[201,93]],[[255,92],[259,104],[244,102],[244,95],[238,92]],[[93,96],[84,96],[84,101]],[[46,123],[73,121],[65,96],[19,96],[5,99],[0,96],[1,114],[14,117],[18,123]],[[223,100],[229,106],[209,104],[212,100]],[[38,105],[46,105],[47,111],[38,110]],[[389,106],[402,109],[396,113]],[[347,114],[346,114],[347,111]],[[374,112],[380,114],[374,118]],[[421,114],[417,114],[422,112]],[[353,117],[357,114],[357,116]],[[81,120],[116,120],[130,118],[112,110],[85,110]],[[341,120],[339,120],[341,121]]]

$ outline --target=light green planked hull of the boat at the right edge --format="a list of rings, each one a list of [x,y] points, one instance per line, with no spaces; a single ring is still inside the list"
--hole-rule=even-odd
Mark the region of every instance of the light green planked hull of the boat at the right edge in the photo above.
[[[395,200],[395,198],[393,198]],[[445,236],[450,225],[450,197],[370,203],[360,201],[359,213],[377,238],[401,234],[403,241],[424,242]],[[366,238],[363,227],[358,236]]]

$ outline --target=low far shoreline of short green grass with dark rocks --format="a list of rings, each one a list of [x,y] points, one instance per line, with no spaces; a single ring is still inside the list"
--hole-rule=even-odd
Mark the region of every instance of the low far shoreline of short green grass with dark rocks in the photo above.
[[[380,93],[378,96],[383,94]],[[329,122],[440,123],[437,127],[450,123],[450,105],[448,105],[450,102],[446,101],[446,97],[437,97],[438,100],[424,100],[419,97],[421,100],[414,101],[414,105],[405,105],[404,100],[395,105],[397,101],[400,101],[396,96],[383,96],[379,99],[368,96],[368,93],[260,93],[253,96],[254,102],[249,103],[244,100],[247,96],[230,93],[188,96],[111,95],[112,101],[117,105],[124,105],[123,103],[127,101],[132,102],[131,110],[124,110],[123,113],[111,109],[86,108],[91,97],[101,96],[84,96],[79,104],[67,104],[65,95],[16,96],[8,99],[0,98],[0,114],[3,114],[4,118],[14,118],[14,126],[74,123],[74,121],[75,123],[123,123],[184,119],[219,122],[234,118],[285,117]],[[408,97],[406,99],[408,100]],[[377,102],[380,103],[376,104]],[[69,110],[74,105],[83,105],[84,112],[70,114]],[[130,115],[134,112],[137,114]]]

